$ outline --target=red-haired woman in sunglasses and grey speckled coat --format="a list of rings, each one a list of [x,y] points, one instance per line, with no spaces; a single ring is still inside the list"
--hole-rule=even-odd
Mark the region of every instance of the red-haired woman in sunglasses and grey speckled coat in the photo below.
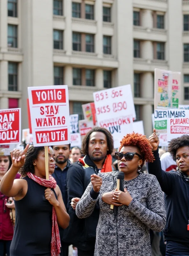
[[[166,223],[163,194],[154,175],[140,172],[145,161],[153,162],[152,146],[146,136],[131,133],[115,153],[119,171],[124,173],[124,190],[117,191],[117,174],[91,175],[76,214],[87,218],[99,201],[94,256],[151,256],[149,228],[160,232]],[[117,211],[112,211],[110,205]]]

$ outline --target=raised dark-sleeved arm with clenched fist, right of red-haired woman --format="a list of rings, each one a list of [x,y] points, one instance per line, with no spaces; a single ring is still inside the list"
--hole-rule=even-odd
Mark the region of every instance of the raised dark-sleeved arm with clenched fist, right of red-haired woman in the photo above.
[[[173,180],[175,179],[175,175],[173,173],[165,172],[162,170],[161,161],[158,153],[159,138],[156,134],[155,129],[153,130],[152,135],[149,136],[149,141],[153,147],[153,154],[155,160],[153,163],[147,163],[148,172],[155,175],[163,192],[169,195],[173,188]]]

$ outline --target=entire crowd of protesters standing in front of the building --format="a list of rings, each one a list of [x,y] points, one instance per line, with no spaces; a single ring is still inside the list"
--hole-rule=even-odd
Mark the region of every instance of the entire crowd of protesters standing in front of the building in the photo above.
[[[159,148],[94,127],[81,149],[0,156],[0,256],[189,256],[189,136]],[[123,174],[123,188],[117,188]],[[16,215],[16,216],[15,216]]]

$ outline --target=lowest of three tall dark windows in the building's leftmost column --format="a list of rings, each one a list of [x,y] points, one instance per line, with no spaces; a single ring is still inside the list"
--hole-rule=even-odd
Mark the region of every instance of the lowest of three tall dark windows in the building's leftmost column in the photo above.
[[[16,62],[9,62],[8,65],[9,91],[18,91],[18,65]]]

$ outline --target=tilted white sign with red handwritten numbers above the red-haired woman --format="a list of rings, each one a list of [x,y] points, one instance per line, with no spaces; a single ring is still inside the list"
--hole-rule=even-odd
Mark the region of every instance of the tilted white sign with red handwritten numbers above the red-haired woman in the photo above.
[[[117,148],[119,141],[133,131],[136,118],[131,85],[94,92],[93,97],[97,123],[111,132]]]

